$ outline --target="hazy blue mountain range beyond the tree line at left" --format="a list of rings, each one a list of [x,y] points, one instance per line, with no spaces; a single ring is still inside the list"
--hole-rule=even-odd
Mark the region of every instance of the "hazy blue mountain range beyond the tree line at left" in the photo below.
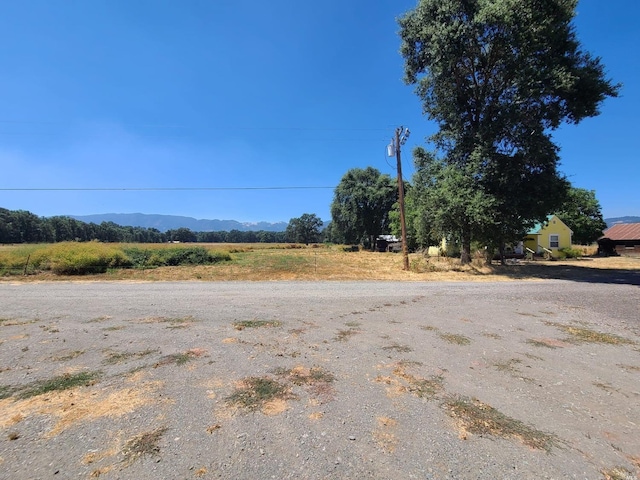
[[[103,213],[96,215],[68,215],[71,218],[87,223],[113,222],[116,225],[157,228],[161,232],[175,230],[177,228],[188,228],[193,232],[230,232],[240,230],[241,232],[260,231],[283,232],[286,230],[287,222],[238,222],[236,220],[198,220],[192,217],[181,217],[178,215],[147,215],[144,213]]]

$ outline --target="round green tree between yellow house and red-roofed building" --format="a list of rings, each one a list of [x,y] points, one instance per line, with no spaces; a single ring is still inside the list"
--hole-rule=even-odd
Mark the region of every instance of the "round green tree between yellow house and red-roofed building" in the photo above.
[[[589,245],[607,228],[594,190],[571,187],[556,215],[573,230],[573,243]]]

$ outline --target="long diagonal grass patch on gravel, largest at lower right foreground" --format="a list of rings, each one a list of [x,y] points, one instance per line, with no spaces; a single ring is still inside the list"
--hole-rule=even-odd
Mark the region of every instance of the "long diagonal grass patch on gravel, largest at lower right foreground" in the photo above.
[[[508,417],[478,399],[450,397],[445,400],[443,405],[447,414],[457,422],[460,436],[463,439],[467,438],[468,433],[515,438],[528,447],[547,452],[550,452],[557,444],[554,435]]]

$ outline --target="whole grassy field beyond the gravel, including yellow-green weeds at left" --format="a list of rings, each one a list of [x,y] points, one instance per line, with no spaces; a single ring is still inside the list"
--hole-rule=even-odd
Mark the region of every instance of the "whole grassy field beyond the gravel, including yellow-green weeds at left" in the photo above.
[[[158,266],[126,265],[120,252],[146,252],[147,258],[165,258],[170,250],[204,248],[211,258],[209,265]],[[79,249],[81,254],[75,252]],[[73,251],[73,254],[69,253]],[[53,252],[53,253],[52,253]],[[65,252],[64,255],[60,252]],[[82,253],[84,252],[84,253]],[[108,252],[116,260],[104,260]],[[115,253],[114,253],[115,252]],[[52,255],[72,261],[100,258],[105,268],[100,273],[67,274],[63,269],[47,268]],[[84,255],[84,256],[83,256]],[[89,260],[86,256],[94,255]],[[80,260],[78,260],[80,258]],[[47,263],[49,262],[49,263]],[[156,262],[157,263],[157,262]],[[565,261],[517,262],[513,265],[487,266],[484,259],[471,265],[460,265],[458,259],[410,255],[410,271],[402,270],[402,256],[394,253],[345,251],[340,245],[292,244],[57,244],[0,246],[0,281],[45,280],[131,280],[131,281],[229,281],[229,280],[404,280],[404,281],[496,281],[511,279],[543,279],[603,275],[635,276],[640,273],[640,259],[632,257],[585,257]],[[0,268],[2,271],[2,268]],[[24,272],[27,272],[24,275]]]

